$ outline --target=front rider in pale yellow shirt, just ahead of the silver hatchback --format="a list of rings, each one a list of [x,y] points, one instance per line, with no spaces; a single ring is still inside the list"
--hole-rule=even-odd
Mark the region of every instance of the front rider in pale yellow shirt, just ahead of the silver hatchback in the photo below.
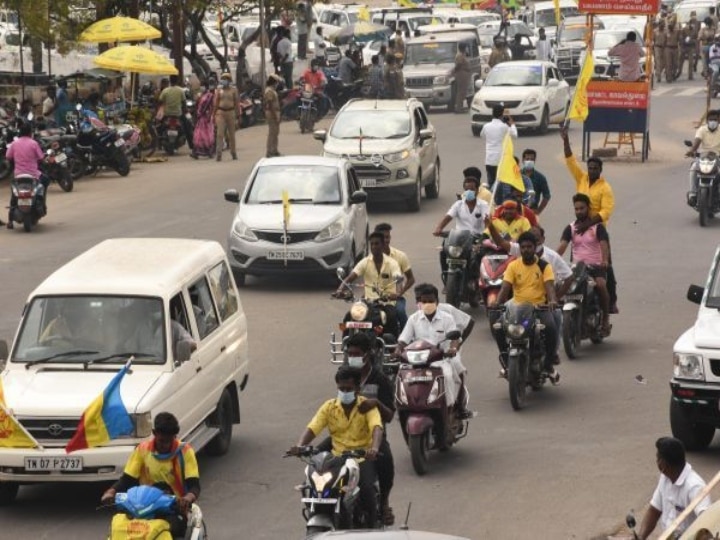
[[[373,232],[368,239],[370,255],[355,265],[350,275],[340,283],[333,296],[342,297],[345,294],[344,286],[352,283],[358,277],[362,277],[365,283],[365,298],[383,300],[382,309],[387,317],[385,329],[388,333],[397,336],[398,321],[395,302],[398,299],[397,284],[402,279],[402,271],[395,259],[385,255],[385,235],[383,233]]]

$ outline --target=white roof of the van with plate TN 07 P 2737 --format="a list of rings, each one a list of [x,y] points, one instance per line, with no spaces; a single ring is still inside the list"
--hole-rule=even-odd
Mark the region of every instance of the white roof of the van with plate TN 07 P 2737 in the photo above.
[[[61,266],[32,294],[170,295],[218,256],[225,252],[211,240],[112,238]]]

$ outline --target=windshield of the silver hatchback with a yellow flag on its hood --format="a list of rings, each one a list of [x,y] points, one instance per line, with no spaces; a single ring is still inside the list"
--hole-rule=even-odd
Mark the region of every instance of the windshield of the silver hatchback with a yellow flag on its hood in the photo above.
[[[266,165],[258,169],[246,204],[340,204],[340,178],[327,165]]]

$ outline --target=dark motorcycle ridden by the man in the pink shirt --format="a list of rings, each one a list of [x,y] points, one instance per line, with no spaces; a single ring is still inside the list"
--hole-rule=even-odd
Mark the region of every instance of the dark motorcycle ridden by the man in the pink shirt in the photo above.
[[[574,283],[565,294],[562,306],[562,340],[568,358],[577,358],[577,348],[583,339],[602,343],[602,309],[595,280],[588,274],[585,263],[573,265]]]

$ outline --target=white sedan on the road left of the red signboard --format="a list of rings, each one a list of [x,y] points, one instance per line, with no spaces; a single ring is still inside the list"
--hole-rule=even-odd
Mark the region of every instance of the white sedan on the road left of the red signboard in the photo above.
[[[475,85],[479,90],[470,114],[476,137],[492,120],[492,109],[498,104],[518,127],[536,128],[541,133],[547,132],[550,124],[562,123],[570,107],[570,87],[552,62],[503,62]]]

